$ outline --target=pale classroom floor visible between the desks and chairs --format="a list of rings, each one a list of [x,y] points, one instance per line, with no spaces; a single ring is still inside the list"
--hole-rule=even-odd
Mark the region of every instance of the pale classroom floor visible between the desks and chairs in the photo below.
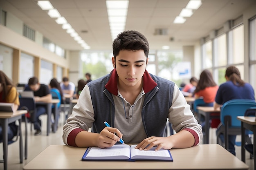
[[[60,120],[63,120],[61,114]],[[40,117],[43,122],[42,135],[34,136],[34,130],[30,131],[30,124],[28,124],[28,158],[20,163],[19,158],[19,142],[15,142],[8,146],[8,170],[22,170],[29,161],[36,157],[40,152],[42,152],[49,145],[64,145],[62,141],[62,126],[63,122],[59,122],[58,130],[56,133],[50,132],[49,136],[46,136],[46,115]],[[22,132],[25,130],[25,125],[22,123]],[[210,144],[216,144],[216,129],[210,129]],[[23,132],[23,135],[25,132]],[[25,137],[25,136],[24,136]],[[24,138],[23,138],[24,139]],[[240,141],[240,135],[237,137],[237,141]],[[24,143],[24,142],[23,142]],[[0,155],[2,155],[2,144],[0,144]],[[241,147],[236,147],[236,156],[241,159]],[[1,156],[0,156],[1,157]],[[246,164],[250,167],[249,170],[254,169],[253,159],[249,159],[249,153],[246,152]],[[0,170],[3,169],[3,163],[0,163]]]

